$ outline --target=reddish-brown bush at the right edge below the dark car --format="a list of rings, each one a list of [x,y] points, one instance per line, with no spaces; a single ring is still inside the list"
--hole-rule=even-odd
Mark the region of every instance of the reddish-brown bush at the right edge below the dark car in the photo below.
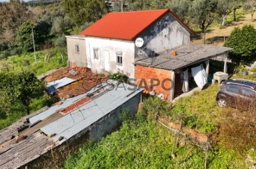
[[[227,109],[220,121],[220,144],[225,148],[247,151],[256,147],[255,113]]]

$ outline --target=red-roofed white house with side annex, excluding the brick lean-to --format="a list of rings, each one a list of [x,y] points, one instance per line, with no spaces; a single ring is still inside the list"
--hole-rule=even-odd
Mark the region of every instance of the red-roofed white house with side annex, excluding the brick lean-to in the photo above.
[[[189,43],[192,34],[169,9],[108,13],[79,36],[67,36],[68,58],[70,66],[97,73],[120,71],[134,78],[134,62]]]

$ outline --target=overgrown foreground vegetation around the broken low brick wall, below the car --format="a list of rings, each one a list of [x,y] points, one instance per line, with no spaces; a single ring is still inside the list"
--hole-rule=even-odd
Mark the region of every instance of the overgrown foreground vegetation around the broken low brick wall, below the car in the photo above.
[[[135,119],[127,119],[119,131],[100,142],[85,143],[63,168],[203,168],[205,151],[161,126],[158,116],[182,120],[183,126],[208,134],[207,168],[252,167],[256,158],[255,115],[217,107],[218,89],[210,86],[174,105],[157,97],[144,99]]]

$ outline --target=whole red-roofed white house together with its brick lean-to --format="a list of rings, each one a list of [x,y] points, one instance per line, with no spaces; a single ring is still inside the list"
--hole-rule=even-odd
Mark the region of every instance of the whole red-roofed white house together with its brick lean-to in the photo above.
[[[78,41],[85,40],[79,46],[85,53],[76,56],[71,52],[68,58],[71,67],[82,60],[81,66],[92,72],[122,72],[146,92],[173,100],[193,88],[195,82],[188,82],[191,79],[198,79],[196,85],[203,88],[210,60],[220,58],[225,62],[220,71],[227,72],[228,51],[232,49],[190,44],[193,35],[191,28],[169,9],[108,13],[76,36]],[[76,44],[68,42],[68,50]],[[193,77],[197,73],[192,70],[198,70],[202,77]]]

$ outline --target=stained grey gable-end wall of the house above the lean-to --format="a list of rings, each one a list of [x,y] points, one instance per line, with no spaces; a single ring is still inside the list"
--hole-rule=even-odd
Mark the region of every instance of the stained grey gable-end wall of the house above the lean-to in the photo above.
[[[144,45],[142,48],[136,47],[135,58],[137,59],[190,42],[190,32],[171,13],[166,13],[159,18],[138,37],[144,39]]]

